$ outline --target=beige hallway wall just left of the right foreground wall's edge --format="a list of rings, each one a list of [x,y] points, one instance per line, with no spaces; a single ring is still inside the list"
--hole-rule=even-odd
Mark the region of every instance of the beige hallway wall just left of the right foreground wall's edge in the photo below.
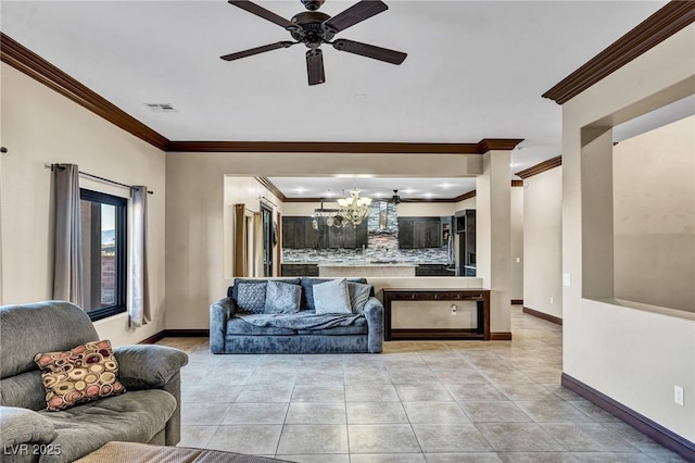
[[[563,167],[523,182],[523,306],[561,318]]]

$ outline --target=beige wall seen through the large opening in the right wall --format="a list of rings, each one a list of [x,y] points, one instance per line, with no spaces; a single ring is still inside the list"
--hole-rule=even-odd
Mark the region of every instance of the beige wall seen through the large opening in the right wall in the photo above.
[[[695,116],[614,148],[615,297],[695,312]]]

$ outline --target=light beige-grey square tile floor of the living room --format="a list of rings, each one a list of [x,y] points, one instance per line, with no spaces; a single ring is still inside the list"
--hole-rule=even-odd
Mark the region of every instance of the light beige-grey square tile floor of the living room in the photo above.
[[[513,341],[382,354],[187,351],[180,446],[304,463],[681,462],[560,386],[561,327],[511,308]]]

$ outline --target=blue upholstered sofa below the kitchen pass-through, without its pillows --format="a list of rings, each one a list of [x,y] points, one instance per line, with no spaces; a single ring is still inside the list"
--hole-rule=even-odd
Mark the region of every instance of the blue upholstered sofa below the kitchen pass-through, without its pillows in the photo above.
[[[213,353],[379,353],[383,347],[383,305],[369,297],[359,313],[316,314],[314,285],[331,278],[285,278],[299,285],[299,311],[291,314],[252,314],[240,310],[239,286],[268,279],[235,278],[227,297],[210,306],[210,349]],[[365,278],[349,279],[366,285]],[[243,305],[243,303],[241,303]],[[274,322],[280,320],[281,325]],[[312,320],[316,326],[306,326]],[[252,322],[252,323],[250,323]]]

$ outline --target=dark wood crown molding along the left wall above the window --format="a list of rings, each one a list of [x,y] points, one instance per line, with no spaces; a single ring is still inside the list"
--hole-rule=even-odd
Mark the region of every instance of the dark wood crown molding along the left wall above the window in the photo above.
[[[161,150],[169,141],[3,33],[0,61]]]

